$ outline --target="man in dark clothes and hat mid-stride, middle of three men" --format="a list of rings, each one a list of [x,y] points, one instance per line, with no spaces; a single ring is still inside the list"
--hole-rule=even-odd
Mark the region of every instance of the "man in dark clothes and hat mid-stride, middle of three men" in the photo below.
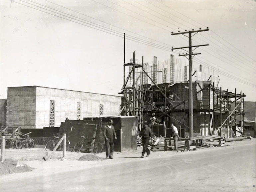
[[[145,152],[147,152],[147,157],[148,157],[150,155],[150,150],[148,149],[149,139],[150,137],[153,136],[153,134],[151,132],[151,129],[148,127],[147,121],[143,123],[143,128],[140,131],[139,136],[141,137],[142,146],[143,146],[141,158],[144,158]]]

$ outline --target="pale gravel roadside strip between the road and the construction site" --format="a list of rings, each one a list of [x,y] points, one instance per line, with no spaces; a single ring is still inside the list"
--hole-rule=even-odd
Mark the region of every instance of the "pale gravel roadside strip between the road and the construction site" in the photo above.
[[[169,155],[186,155],[192,152],[203,152],[204,150],[221,150],[223,147],[228,147],[232,149],[238,145],[246,145],[246,144],[256,144],[256,139],[246,139],[242,141],[233,141],[227,142],[226,146],[223,147],[215,147],[214,144],[218,144],[217,141],[207,142],[211,144],[211,147],[201,148],[196,151],[188,151],[188,152],[173,152],[173,151],[155,151],[151,152],[149,157],[145,158],[157,158],[159,156],[169,156]],[[33,149],[6,149],[4,153],[5,161],[0,163],[0,173],[11,174],[27,172],[26,175],[33,176],[33,174],[51,174],[53,172],[64,172],[69,170],[78,170],[82,167],[96,167],[106,164],[113,163],[121,163],[121,162],[130,162],[135,160],[140,160],[140,155],[142,152],[142,147],[138,147],[136,151],[122,151],[122,152],[114,152],[113,159],[106,159],[105,152],[102,153],[81,153],[81,152],[71,152],[66,151],[66,159],[63,159],[63,152],[56,151],[52,158],[49,161],[44,161],[43,157],[46,155],[46,151],[42,148],[33,148]],[[49,155],[51,151],[49,152]],[[24,164],[24,166],[16,167],[17,161]],[[62,161],[60,161],[62,160]],[[33,170],[35,169],[35,170]],[[33,170],[33,171],[32,171]],[[50,170],[50,171],[49,171]],[[17,174],[17,175],[18,175]],[[0,174],[1,175],[1,174]],[[16,175],[16,174],[15,174]],[[1,177],[2,179],[11,179],[12,177],[8,177],[4,175]],[[0,179],[1,180],[1,179]]]

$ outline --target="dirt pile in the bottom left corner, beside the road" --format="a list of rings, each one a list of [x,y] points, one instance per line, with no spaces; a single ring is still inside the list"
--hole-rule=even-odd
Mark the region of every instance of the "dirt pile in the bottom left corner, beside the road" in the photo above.
[[[16,166],[17,162],[17,160],[13,159],[5,159],[3,162],[0,162],[0,175],[27,172],[34,169],[22,163],[18,163],[18,166]]]

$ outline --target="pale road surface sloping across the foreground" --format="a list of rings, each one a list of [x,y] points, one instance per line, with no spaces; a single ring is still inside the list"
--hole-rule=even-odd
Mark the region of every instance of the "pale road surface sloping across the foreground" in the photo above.
[[[256,145],[248,144],[3,181],[0,191],[249,192],[256,191],[253,185],[256,185]]]

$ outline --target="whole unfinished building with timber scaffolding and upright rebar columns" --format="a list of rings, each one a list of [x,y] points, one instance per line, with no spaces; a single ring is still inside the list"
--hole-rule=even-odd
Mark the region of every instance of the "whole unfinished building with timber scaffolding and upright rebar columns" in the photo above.
[[[139,64],[135,59],[135,52],[130,63],[124,63],[124,84],[121,92],[124,98],[120,113],[124,116],[137,116],[139,125],[148,121],[152,125],[170,128],[173,123],[179,129],[180,136],[186,137],[190,132],[187,67],[184,67],[183,81],[177,81],[174,55],[170,56],[168,70],[164,67],[159,71],[157,65],[157,57],[154,57],[151,67],[143,62],[143,57],[142,64]],[[222,90],[214,77],[204,79],[201,68],[200,65],[199,71],[194,71],[197,78],[192,79],[194,137],[219,135],[232,138],[244,135],[245,95],[238,93],[236,89],[234,92]],[[159,72],[162,72],[162,79],[159,78]],[[241,120],[239,124],[236,121],[238,116]],[[157,136],[164,134],[169,137],[168,133],[159,129],[161,128],[154,131]]]

